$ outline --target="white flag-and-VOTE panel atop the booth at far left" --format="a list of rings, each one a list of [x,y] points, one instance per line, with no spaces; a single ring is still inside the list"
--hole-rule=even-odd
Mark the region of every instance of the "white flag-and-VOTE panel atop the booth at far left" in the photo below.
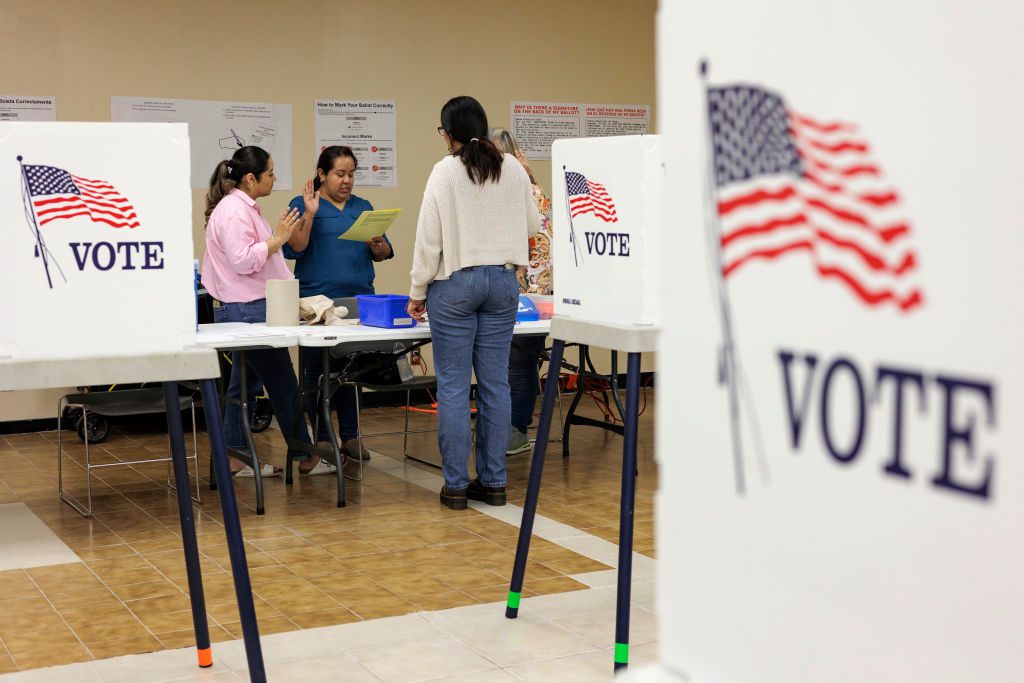
[[[194,343],[184,124],[0,123],[0,357]]]

